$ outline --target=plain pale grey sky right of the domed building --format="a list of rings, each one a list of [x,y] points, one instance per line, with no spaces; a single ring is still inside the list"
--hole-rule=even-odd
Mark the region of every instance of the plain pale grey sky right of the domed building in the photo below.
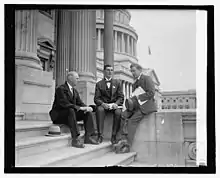
[[[139,63],[155,70],[161,90],[196,89],[196,11],[129,12],[130,25],[138,34]]]

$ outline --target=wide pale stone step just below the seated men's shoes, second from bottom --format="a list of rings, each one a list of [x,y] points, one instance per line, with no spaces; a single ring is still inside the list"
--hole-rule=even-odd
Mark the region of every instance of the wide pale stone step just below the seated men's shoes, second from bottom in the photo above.
[[[69,167],[111,151],[110,142],[85,144],[85,148],[62,147],[16,161],[16,167]]]

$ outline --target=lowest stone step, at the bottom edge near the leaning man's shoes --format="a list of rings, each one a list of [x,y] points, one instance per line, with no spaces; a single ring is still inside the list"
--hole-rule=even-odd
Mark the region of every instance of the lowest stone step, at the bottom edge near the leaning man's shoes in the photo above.
[[[77,167],[106,167],[106,166],[127,166],[135,160],[136,153],[116,154],[109,152],[102,157],[92,159]]]

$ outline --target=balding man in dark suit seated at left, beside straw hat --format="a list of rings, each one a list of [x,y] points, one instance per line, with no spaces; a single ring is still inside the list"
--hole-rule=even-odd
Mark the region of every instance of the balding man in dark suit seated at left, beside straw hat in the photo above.
[[[74,71],[67,74],[65,84],[56,89],[53,107],[49,114],[54,124],[66,124],[69,126],[73,147],[84,148],[84,144],[80,143],[78,139],[80,133],[77,121],[84,121],[84,143],[98,144],[98,142],[92,138],[94,123],[91,112],[95,108],[86,106],[80,99],[79,93],[75,89],[78,79],[79,76]]]

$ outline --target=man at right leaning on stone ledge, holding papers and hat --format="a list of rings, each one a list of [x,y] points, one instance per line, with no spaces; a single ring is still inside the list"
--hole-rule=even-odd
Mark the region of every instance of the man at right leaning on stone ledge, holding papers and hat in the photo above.
[[[155,86],[150,76],[142,74],[142,67],[139,64],[132,64],[130,66],[131,73],[135,79],[132,85],[132,92],[137,88],[143,89],[143,93],[134,95],[137,99],[137,106],[134,110],[126,109],[121,117],[121,136],[127,139],[129,144],[132,144],[136,128],[145,115],[157,111],[157,106],[154,100]]]

